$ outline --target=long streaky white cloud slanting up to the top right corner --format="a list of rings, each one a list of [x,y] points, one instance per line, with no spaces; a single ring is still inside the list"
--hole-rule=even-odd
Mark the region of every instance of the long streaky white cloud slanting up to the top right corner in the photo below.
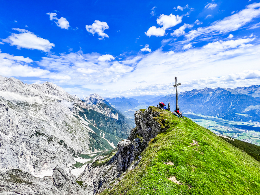
[[[193,39],[198,36],[212,36],[219,33],[228,33],[235,31],[246,23],[252,21],[253,18],[260,16],[260,3],[253,3],[246,6],[246,9],[225,17],[223,20],[215,21],[208,27],[198,28],[187,33],[185,36]],[[257,9],[258,8],[258,9]]]

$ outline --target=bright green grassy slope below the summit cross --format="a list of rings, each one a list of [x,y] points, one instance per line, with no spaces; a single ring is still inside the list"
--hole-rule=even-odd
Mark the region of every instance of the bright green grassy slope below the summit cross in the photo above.
[[[102,194],[260,194],[258,161],[188,118],[164,110],[155,119],[169,129],[150,141],[134,170]],[[182,185],[167,179],[172,176]]]

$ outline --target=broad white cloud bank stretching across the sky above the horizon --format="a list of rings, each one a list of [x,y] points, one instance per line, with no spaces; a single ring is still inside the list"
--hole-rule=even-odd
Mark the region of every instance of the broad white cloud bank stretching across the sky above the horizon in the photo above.
[[[83,54],[82,51],[59,55],[49,53],[48,57],[42,57],[40,62],[36,62],[45,70],[30,67],[28,63],[32,60],[29,58],[5,54],[7,57],[0,57],[0,67],[11,60],[10,66],[13,68],[4,69],[6,76],[21,76],[23,73],[25,76],[38,75],[37,77],[45,80],[48,78],[57,84],[81,85],[81,92],[84,87],[103,96],[169,93],[173,90],[172,75],[176,75],[181,82],[180,92],[214,86],[235,88],[260,82],[257,76],[260,45],[251,44],[254,40],[255,38],[214,41],[203,47],[187,44],[187,49],[179,52],[165,52],[160,48],[122,61],[101,62],[100,54]],[[19,60],[14,60],[15,58]],[[231,77],[234,72],[240,76],[235,73]],[[223,75],[229,78],[222,82],[223,79],[219,78]],[[73,88],[66,90],[81,94]]]

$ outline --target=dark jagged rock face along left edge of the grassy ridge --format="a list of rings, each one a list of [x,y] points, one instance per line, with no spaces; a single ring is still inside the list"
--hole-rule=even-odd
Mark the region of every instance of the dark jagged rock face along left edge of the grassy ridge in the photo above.
[[[108,157],[105,157],[93,164],[88,164],[77,179],[91,185],[94,194],[106,188],[112,188],[114,184],[123,179],[127,171],[133,170],[138,165],[142,159],[141,153],[149,141],[158,133],[166,131],[164,126],[161,126],[156,120],[157,116],[159,113],[153,111],[152,108],[136,111],[136,127],[131,130],[127,140],[118,142],[118,151],[114,152],[115,155],[110,160],[106,160]]]

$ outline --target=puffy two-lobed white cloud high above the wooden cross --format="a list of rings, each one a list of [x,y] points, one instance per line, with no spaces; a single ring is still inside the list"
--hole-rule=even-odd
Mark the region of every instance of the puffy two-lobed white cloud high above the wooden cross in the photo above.
[[[161,14],[159,18],[156,19],[157,24],[162,26],[159,28],[156,28],[155,26],[152,26],[148,29],[147,32],[145,32],[146,36],[164,36],[166,29],[170,27],[174,27],[177,24],[181,23],[182,16],[175,16],[173,14],[170,15],[164,15]]]

